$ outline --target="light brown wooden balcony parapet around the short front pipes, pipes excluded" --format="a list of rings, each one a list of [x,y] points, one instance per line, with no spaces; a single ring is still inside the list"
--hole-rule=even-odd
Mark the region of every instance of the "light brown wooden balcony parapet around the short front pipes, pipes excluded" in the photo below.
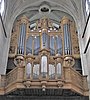
[[[88,95],[87,77],[82,76],[71,67],[63,67],[61,79],[54,78],[50,80],[48,76],[46,79],[41,76],[37,80],[27,79],[25,77],[25,67],[16,67],[7,75],[1,75],[0,94],[8,93],[17,88],[42,88],[44,85],[45,88],[72,89],[81,95]]]

